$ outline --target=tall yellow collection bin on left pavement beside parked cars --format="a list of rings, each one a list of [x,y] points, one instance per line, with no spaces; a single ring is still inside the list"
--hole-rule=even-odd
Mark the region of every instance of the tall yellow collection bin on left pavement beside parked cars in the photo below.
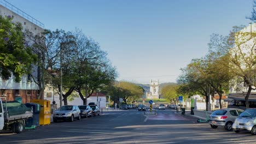
[[[31,103],[37,103],[40,105],[39,113],[39,124],[46,125],[51,123],[51,110],[50,110],[50,100],[34,99]]]

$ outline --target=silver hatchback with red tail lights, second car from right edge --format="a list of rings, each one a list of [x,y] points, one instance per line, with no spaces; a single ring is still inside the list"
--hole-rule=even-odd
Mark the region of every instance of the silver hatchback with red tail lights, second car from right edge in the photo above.
[[[232,130],[232,124],[242,112],[243,110],[231,108],[216,110],[211,114],[209,124],[213,129],[224,127],[225,130]]]

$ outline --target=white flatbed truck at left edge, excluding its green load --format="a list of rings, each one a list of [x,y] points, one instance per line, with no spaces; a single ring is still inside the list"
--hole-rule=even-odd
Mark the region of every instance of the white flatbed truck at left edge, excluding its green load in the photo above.
[[[33,110],[26,111],[20,115],[9,116],[6,102],[5,107],[3,107],[2,99],[0,98],[0,130],[12,130],[13,133],[21,133],[25,129],[27,118],[31,117],[33,117]]]

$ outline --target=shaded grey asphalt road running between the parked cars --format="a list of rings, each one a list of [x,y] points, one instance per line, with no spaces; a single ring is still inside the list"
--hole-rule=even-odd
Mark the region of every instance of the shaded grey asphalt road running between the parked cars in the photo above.
[[[211,129],[195,117],[156,110],[104,111],[103,115],[74,122],[51,123],[21,134],[0,132],[0,143],[255,143],[256,136]]]

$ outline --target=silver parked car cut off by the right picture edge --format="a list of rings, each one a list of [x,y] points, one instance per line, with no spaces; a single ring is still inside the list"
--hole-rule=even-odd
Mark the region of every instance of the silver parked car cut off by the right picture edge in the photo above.
[[[249,131],[252,135],[256,135],[256,109],[246,109],[235,120],[232,125],[233,130]]]

